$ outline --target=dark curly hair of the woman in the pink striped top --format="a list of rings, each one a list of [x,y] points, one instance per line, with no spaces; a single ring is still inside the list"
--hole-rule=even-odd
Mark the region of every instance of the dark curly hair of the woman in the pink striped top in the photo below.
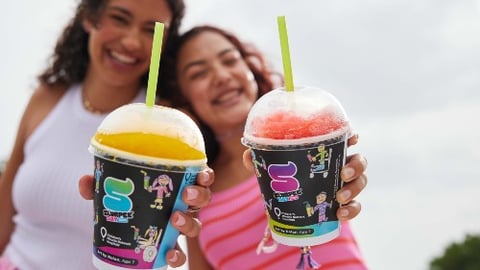
[[[283,84],[283,77],[280,73],[274,72],[270,69],[265,57],[263,54],[252,44],[244,43],[240,41],[238,37],[234,34],[220,29],[211,25],[197,26],[189,31],[185,32],[178,39],[174,40],[174,51],[169,54],[168,63],[169,67],[167,72],[167,87],[163,89],[166,96],[171,100],[173,107],[183,108],[189,111],[194,117],[196,117],[195,112],[192,110],[188,101],[182,95],[180,86],[178,84],[178,78],[176,73],[175,63],[178,59],[179,51],[182,49],[183,45],[191,40],[192,38],[198,36],[203,32],[214,32],[224,36],[230,43],[232,43],[237,50],[240,52],[240,55],[247,63],[248,67],[253,73],[255,81],[258,85],[259,96],[267,93],[268,91],[278,87],[280,84]],[[278,80],[275,80],[277,78]],[[201,119],[196,119],[199,123],[200,130],[205,139],[205,147],[207,152],[208,163],[211,165],[219,152],[219,143],[213,133],[212,129],[203,123]]]

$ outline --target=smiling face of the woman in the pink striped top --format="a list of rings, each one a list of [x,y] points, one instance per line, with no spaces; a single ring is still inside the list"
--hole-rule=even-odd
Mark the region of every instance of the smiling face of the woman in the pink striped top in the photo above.
[[[187,100],[197,101],[190,104],[198,117],[223,136],[243,127],[258,85],[238,49],[221,35],[205,32],[193,39],[177,58],[179,88]]]

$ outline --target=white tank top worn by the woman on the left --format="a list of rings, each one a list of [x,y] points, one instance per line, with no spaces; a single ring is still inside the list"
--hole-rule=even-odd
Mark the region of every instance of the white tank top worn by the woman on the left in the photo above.
[[[28,138],[13,183],[15,231],[6,256],[21,270],[95,269],[93,203],[78,179],[93,173],[90,138],[106,115],[86,111],[72,86]],[[133,102],[145,102],[139,91]]]

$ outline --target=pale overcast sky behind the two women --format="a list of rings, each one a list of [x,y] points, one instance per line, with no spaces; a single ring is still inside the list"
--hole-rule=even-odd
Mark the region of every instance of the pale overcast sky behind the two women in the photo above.
[[[280,72],[276,17],[286,16],[294,83],[340,100],[360,135],[349,153],[369,162],[352,226],[370,269],[428,269],[448,244],[480,233],[479,0],[186,3],[183,30],[222,26]],[[75,4],[4,3],[0,158]]]

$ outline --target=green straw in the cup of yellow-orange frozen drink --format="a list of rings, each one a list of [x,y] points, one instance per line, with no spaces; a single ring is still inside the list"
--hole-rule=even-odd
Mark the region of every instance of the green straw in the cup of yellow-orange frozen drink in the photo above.
[[[158,68],[160,67],[160,55],[162,52],[163,28],[163,23],[155,22],[155,30],[153,32],[152,56],[150,58],[150,70],[148,73],[147,99],[145,101],[148,107],[153,107],[153,105],[155,104],[158,81]]]

